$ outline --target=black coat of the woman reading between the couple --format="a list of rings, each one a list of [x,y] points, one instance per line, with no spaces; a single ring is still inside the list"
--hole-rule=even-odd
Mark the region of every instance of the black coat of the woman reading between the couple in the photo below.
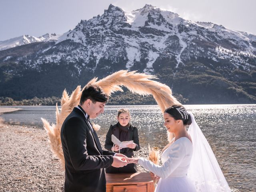
[[[111,141],[111,135],[114,134],[118,139],[119,138],[119,132],[120,128],[117,124],[114,126],[110,125],[110,128],[108,130],[108,133],[106,135],[106,141],[105,141],[105,148],[107,150],[111,150],[113,146],[113,142]],[[120,153],[126,155],[127,157],[134,156],[134,151],[140,150],[140,142],[139,142],[139,135],[138,135],[138,129],[132,125],[129,126],[128,129],[128,141],[133,140],[133,142],[136,144],[136,147],[134,149],[131,148],[123,148],[120,150]],[[122,142],[122,140],[120,140]],[[128,164],[127,166],[116,168],[109,166],[106,168],[106,173],[135,173],[137,172],[137,166],[134,163]]]

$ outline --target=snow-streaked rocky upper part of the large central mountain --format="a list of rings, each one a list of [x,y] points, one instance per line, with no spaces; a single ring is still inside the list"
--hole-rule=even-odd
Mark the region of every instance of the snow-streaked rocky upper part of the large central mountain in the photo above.
[[[100,59],[109,59],[110,54],[117,58],[121,54],[128,69],[146,59],[144,72],[154,72],[152,65],[161,57],[175,57],[177,66],[202,56],[216,62],[228,59],[247,69],[256,64],[248,62],[248,58],[256,60],[256,36],[213,23],[184,20],[178,14],[151,5],[130,13],[110,5],[102,16],[82,20],[56,43],[65,40],[82,45],[82,55],[51,54],[46,58],[49,62],[58,62],[63,56],[70,62],[82,58],[85,63],[95,58],[96,68]]]

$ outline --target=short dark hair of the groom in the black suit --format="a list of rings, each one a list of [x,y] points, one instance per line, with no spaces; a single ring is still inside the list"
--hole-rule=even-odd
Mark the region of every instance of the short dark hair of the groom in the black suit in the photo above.
[[[106,94],[100,86],[89,84],[82,91],[79,104],[82,105],[87,99],[92,100],[93,103],[106,103],[108,102],[108,94]]]

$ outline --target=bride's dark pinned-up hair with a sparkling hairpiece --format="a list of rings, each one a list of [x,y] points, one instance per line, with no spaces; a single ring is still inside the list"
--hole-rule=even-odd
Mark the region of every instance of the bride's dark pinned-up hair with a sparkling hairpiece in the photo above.
[[[181,105],[170,106],[164,112],[168,113],[175,120],[182,120],[184,125],[190,125],[192,123],[190,114]]]

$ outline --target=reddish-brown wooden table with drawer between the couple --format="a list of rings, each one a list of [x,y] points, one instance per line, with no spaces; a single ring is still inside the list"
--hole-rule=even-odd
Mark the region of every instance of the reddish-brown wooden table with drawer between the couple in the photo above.
[[[106,173],[106,192],[154,192],[153,176],[150,173]]]

